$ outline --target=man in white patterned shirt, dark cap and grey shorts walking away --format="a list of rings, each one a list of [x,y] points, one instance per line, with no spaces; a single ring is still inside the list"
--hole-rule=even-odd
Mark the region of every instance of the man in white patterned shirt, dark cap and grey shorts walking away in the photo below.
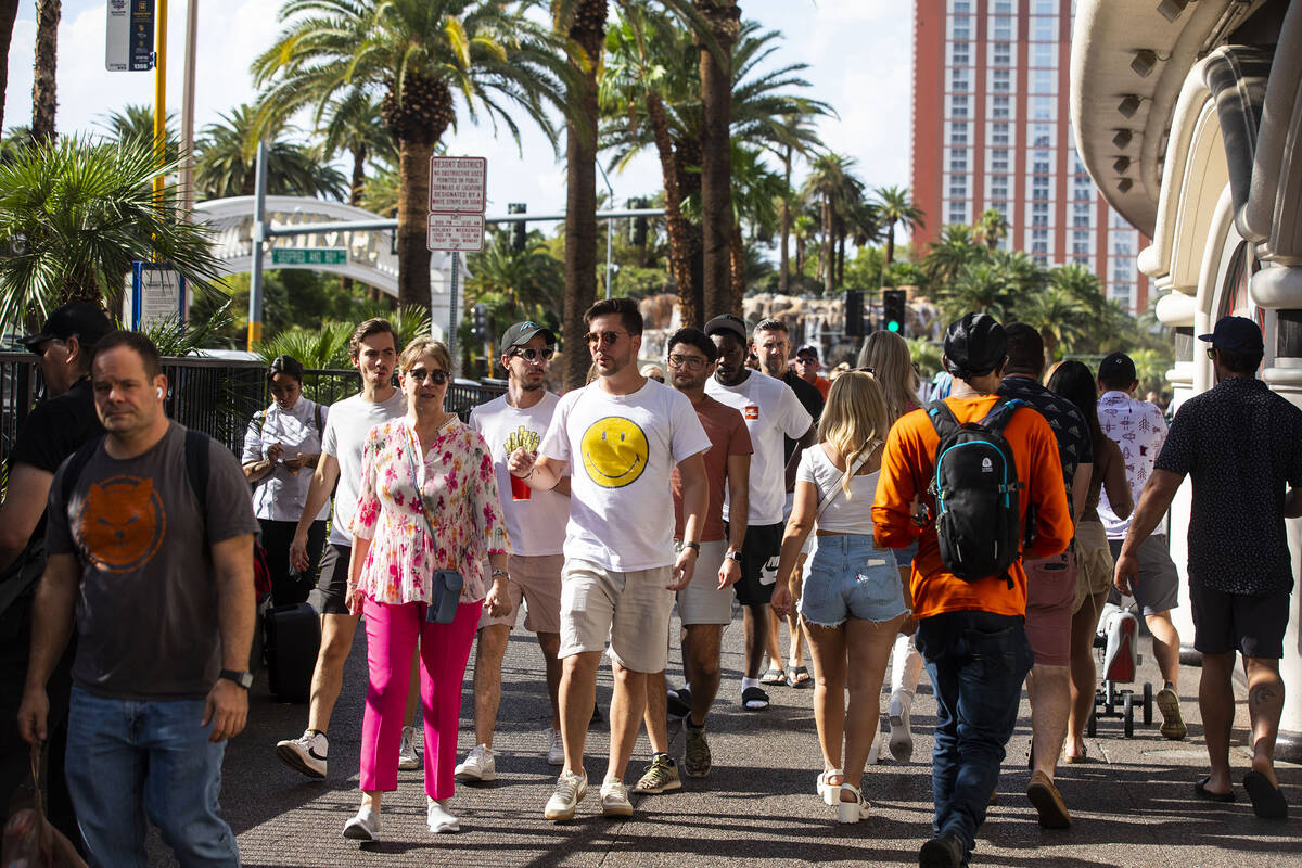
[[[1125,353],[1109,353],[1099,362],[1099,427],[1121,446],[1126,463],[1126,481],[1134,502],[1152,475],[1157,453],[1167,442],[1167,420],[1161,410],[1147,401],[1137,401],[1135,363]],[[1112,557],[1121,554],[1134,514],[1117,518],[1108,502],[1108,492],[1099,495],[1099,521],[1108,534]],[[1180,711],[1180,632],[1170,619],[1170,610],[1180,605],[1180,574],[1170,560],[1167,534],[1157,526],[1138,549],[1139,580],[1130,586],[1135,603],[1143,612],[1152,634],[1152,656],[1161,670],[1161,690],[1154,698],[1161,712],[1161,734],[1173,742],[1189,731]]]

